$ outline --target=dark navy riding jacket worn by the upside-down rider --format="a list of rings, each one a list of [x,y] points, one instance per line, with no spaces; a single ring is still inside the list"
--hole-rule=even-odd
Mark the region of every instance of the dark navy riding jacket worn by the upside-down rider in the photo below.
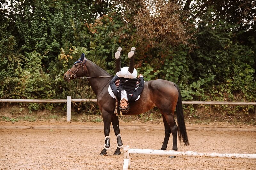
[[[120,80],[119,87],[116,88],[115,82],[118,79]],[[140,85],[138,89],[135,90],[137,81],[140,81]],[[118,100],[121,100],[121,90],[125,90],[127,93],[128,102],[130,102],[137,99],[137,97],[141,94],[144,88],[144,77],[141,76],[140,78],[137,78],[137,79],[127,79],[124,77],[119,78],[117,75],[115,75],[115,77],[113,77],[113,79],[110,81],[109,85],[112,92],[114,93],[114,95]]]

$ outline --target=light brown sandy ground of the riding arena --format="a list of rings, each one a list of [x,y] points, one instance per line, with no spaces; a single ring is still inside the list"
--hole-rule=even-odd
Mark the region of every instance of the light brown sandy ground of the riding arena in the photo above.
[[[103,149],[103,124],[12,124],[0,123],[1,169],[122,169],[122,154],[112,155],[116,139],[111,129],[108,156],[99,156]],[[16,124],[17,125],[17,124]],[[40,128],[35,128],[41,126]],[[82,125],[82,126],[81,126]],[[4,127],[5,126],[5,127]],[[7,126],[12,129],[6,129]],[[23,126],[22,129],[19,127]],[[47,126],[42,128],[43,126]],[[62,126],[62,127],[61,127]],[[69,129],[60,129],[66,126]],[[77,128],[76,126],[84,127]],[[24,128],[27,127],[27,128]],[[30,128],[32,127],[32,128]],[[56,128],[57,127],[57,128]],[[94,128],[92,128],[94,127]],[[96,127],[96,128],[95,128]],[[132,148],[160,149],[164,139],[161,125],[140,124],[131,128],[120,124],[124,145]],[[133,126],[135,127],[135,126]],[[29,129],[28,129],[29,128]],[[234,128],[211,129],[188,127],[190,146],[178,145],[179,151],[256,153],[256,132]],[[90,130],[91,129],[91,130]],[[239,128],[237,128],[239,130]],[[243,129],[243,128],[242,128]],[[168,150],[172,149],[172,139]],[[132,169],[256,169],[256,160],[132,155]]]

